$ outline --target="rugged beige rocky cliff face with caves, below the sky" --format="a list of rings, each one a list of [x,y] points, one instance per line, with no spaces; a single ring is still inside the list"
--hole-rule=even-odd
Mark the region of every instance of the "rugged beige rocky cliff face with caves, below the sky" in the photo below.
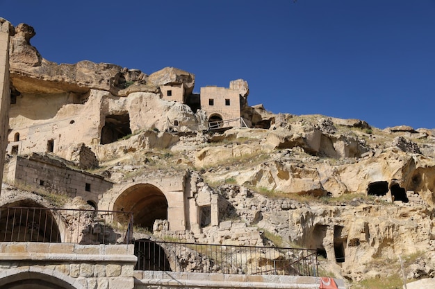
[[[329,269],[350,281],[387,276],[388,267],[373,268],[373,262],[398,255],[422,256],[416,264],[425,265],[407,268],[409,278],[435,274],[434,130],[379,130],[361,120],[272,114],[246,105],[242,115],[252,128],[171,134],[163,132],[167,119],[186,125],[204,119],[160,98],[160,85],[174,81],[191,92],[191,73],[164,69],[147,76],[114,64],[56,64],[31,46],[33,35],[20,24],[10,46],[12,96],[19,98],[10,126],[27,140],[33,135],[28,128],[65,127],[74,134],[53,153],[72,159],[77,143],[85,143],[113,182],[144,164],[195,170],[227,200],[227,218],[279,236],[284,245],[318,249]],[[126,111],[128,137],[95,141],[104,123],[122,123]],[[122,125],[115,128],[106,137]],[[257,243],[259,235],[252,236]]]

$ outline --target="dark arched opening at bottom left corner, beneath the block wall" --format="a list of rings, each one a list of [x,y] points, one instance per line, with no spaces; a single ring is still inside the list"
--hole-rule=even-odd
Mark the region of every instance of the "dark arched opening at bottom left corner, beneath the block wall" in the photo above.
[[[68,277],[69,279],[69,277]],[[67,281],[40,272],[20,272],[0,279],[2,289],[79,289]]]

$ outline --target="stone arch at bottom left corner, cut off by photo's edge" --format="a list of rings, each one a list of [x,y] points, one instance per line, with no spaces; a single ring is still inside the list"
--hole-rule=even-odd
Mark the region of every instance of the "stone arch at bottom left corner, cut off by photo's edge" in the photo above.
[[[5,270],[6,276],[0,278],[2,289],[84,289],[83,286],[61,272],[41,270],[40,268]],[[54,276],[56,275],[56,276]]]

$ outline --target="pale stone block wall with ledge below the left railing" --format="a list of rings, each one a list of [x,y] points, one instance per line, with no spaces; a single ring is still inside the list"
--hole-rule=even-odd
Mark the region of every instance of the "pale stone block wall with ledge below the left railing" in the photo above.
[[[136,261],[134,245],[0,243],[0,288],[28,279],[32,286],[133,289]]]

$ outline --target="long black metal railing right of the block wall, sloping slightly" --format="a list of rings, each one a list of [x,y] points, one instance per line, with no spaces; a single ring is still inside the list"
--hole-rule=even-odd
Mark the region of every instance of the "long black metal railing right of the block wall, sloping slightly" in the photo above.
[[[313,249],[135,240],[135,270],[318,277]]]

